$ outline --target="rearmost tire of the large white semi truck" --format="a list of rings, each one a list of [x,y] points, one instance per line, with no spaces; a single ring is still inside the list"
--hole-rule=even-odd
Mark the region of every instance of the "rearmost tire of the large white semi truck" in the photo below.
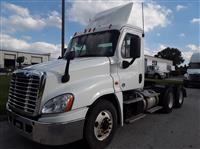
[[[181,108],[183,102],[184,102],[183,89],[181,87],[178,87],[175,95],[175,107]]]

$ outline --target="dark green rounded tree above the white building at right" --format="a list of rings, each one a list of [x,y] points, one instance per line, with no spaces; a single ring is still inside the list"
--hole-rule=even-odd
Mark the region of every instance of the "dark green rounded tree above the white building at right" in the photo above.
[[[177,48],[170,48],[167,47],[163,49],[162,51],[158,52],[155,57],[160,57],[168,60],[173,61],[173,65],[177,68],[178,65],[182,64],[184,62],[184,59],[182,57],[182,54],[179,49]]]

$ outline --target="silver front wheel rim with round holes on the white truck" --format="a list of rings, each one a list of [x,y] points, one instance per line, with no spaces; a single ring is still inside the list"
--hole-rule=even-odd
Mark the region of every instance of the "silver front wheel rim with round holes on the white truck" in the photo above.
[[[113,128],[112,114],[105,110],[101,111],[97,116],[94,124],[94,135],[99,141],[105,140],[111,133]]]

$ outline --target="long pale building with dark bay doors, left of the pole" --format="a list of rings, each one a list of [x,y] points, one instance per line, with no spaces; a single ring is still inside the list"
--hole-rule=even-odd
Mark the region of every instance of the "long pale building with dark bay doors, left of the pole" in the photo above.
[[[29,66],[49,61],[50,53],[38,54],[21,51],[0,50],[0,68],[16,68],[18,66],[18,63],[16,62],[18,57],[24,57],[22,66]]]

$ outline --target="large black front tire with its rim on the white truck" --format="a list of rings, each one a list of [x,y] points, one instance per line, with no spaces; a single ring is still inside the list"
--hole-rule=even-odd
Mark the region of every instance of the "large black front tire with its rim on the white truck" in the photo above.
[[[110,144],[117,129],[117,112],[107,100],[100,100],[89,109],[84,126],[84,139],[91,149]]]

